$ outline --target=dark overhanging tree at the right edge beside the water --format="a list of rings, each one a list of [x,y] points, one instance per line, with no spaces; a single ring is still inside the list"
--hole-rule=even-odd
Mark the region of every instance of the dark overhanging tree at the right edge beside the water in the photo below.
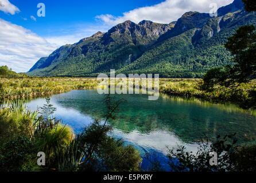
[[[247,11],[255,11],[255,1],[244,0]],[[236,97],[238,87],[256,78],[256,29],[254,25],[239,27],[236,33],[228,38],[225,44],[227,50],[234,55],[233,63],[207,71],[203,78],[201,89],[207,92],[227,87]],[[255,86],[247,92],[247,99],[241,99],[243,108],[256,108]]]

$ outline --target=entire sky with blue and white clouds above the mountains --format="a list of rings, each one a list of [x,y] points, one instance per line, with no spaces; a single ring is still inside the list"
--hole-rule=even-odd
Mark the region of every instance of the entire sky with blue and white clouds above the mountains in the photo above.
[[[0,65],[28,71],[61,45],[97,31],[106,32],[127,19],[138,23],[176,21],[187,11],[210,13],[233,0],[0,0]],[[38,17],[38,3],[45,17]]]

